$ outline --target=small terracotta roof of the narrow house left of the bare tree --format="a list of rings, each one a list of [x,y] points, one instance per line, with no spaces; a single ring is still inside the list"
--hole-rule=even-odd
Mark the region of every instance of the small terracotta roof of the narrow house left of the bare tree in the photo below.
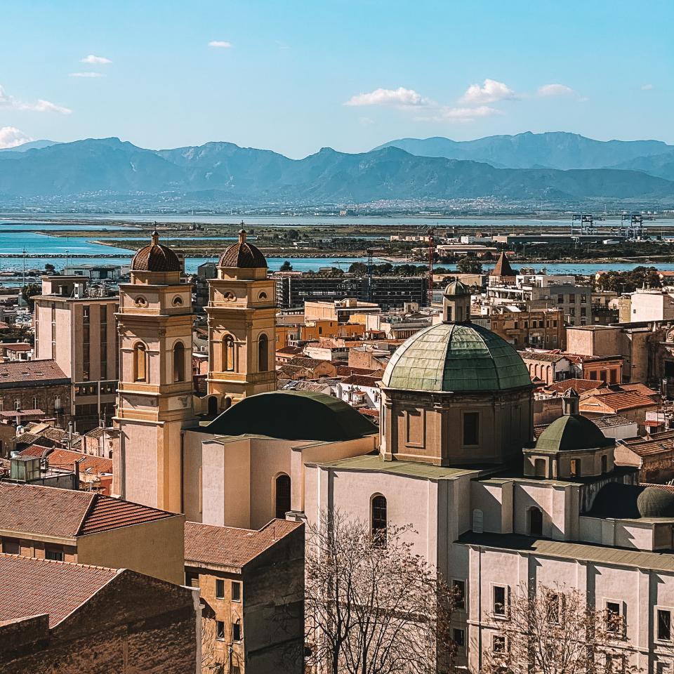
[[[185,561],[243,567],[301,526],[301,522],[272,520],[256,531],[185,522]]]

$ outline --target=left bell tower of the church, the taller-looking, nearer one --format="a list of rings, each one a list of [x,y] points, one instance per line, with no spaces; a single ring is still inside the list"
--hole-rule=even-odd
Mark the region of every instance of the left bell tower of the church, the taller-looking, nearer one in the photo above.
[[[180,283],[180,260],[152,243],[119,286],[120,430],[114,494],[154,508],[183,512],[181,432],[194,425],[192,293]]]

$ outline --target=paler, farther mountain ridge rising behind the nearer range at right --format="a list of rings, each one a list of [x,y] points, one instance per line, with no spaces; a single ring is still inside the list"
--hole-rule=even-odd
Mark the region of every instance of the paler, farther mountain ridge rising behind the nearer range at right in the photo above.
[[[509,169],[609,169],[630,168],[651,173],[656,164],[650,157],[670,157],[674,161],[674,145],[661,140],[593,140],[577,133],[518,133],[516,136],[488,136],[477,140],[449,138],[400,138],[379,145],[399,147],[420,157],[447,157],[484,161],[491,166]],[[630,166],[630,162],[634,165]],[[672,175],[660,177],[674,179]]]

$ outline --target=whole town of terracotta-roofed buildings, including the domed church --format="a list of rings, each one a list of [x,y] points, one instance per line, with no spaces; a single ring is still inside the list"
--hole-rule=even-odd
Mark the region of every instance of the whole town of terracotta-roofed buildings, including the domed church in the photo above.
[[[670,671],[674,273],[658,275],[621,292],[501,251],[489,273],[376,290],[270,272],[244,229],[187,275],[155,228],[113,275],[8,286],[0,670],[359,671],[362,622],[338,623],[362,597],[331,595],[358,549],[382,574],[364,614],[404,635],[381,657],[418,658],[406,672],[505,666],[538,587],[548,612],[589,597],[593,671]]]

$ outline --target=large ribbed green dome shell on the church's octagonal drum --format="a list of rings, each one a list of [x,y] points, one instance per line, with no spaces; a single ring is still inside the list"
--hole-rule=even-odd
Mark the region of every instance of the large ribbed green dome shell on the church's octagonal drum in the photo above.
[[[527,366],[508,342],[472,323],[440,323],[412,335],[393,354],[387,388],[470,392],[531,386]]]

